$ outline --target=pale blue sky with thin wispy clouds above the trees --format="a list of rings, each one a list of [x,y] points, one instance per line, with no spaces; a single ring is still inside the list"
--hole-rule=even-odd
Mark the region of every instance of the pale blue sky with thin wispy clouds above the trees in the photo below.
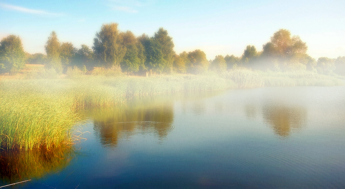
[[[203,50],[242,56],[258,51],[279,29],[288,29],[308,46],[307,54],[345,56],[344,0],[0,0],[0,38],[17,35],[28,53],[45,53],[52,31],[60,42],[90,48],[103,23],[121,31],[154,36],[160,27],[172,37],[177,54]]]

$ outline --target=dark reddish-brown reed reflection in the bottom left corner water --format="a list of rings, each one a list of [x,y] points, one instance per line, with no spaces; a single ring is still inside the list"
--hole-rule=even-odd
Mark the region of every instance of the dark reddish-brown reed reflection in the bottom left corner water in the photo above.
[[[39,179],[50,172],[65,168],[73,149],[9,150],[0,152],[0,177],[4,183]]]

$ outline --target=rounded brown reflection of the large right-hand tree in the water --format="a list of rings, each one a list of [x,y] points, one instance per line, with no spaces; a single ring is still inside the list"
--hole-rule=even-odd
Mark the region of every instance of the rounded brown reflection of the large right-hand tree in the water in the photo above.
[[[276,135],[285,138],[303,128],[307,112],[301,106],[271,104],[263,107],[263,117]]]

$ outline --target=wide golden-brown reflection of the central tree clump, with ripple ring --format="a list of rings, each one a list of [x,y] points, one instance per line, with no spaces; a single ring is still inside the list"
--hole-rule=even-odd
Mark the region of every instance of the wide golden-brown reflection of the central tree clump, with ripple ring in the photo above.
[[[114,107],[87,108],[85,115],[105,146],[115,147],[119,138],[133,134],[154,134],[164,139],[174,128],[174,108],[166,96],[142,97]]]

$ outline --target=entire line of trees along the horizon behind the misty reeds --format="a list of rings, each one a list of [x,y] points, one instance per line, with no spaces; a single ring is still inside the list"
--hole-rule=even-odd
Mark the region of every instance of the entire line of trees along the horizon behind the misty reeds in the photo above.
[[[248,45],[241,57],[217,55],[207,60],[206,54],[196,49],[176,54],[174,42],[168,31],[159,28],[154,36],[135,36],[131,31],[120,31],[117,23],[103,24],[93,39],[93,46],[81,45],[78,49],[71,42],[60,42],[52,31],[45,45],[46,54],[29,54],[23,50],[21,39],[15,35],[0,42],[0,74],[15,74],[24,64],[44,64],[57,73],[68,67],[92,70],[94,67],[118,67],[127,74],[153,73],[200,74],[208,70],[224,72],[237,67],[261,70],[311,70],[320,74],[345,75],[345,56],[336,59],[307,55],[307,45],[299,36],[292,36],[287,29],[279,29],[263,45],[261,51]]]

